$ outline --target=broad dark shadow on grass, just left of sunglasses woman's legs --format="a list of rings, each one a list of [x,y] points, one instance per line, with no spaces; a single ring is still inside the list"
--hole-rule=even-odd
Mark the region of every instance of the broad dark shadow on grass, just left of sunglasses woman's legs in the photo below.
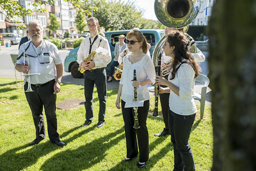
[[[102,162],[107,156],[107,151],[124,138],[123,129],[120,128],[113,133],[83,144],[75,150],[67,149],[66,151],[55,154],[44,162],[40,170],[52,170],[52,168],[54,170],[89,169]]]

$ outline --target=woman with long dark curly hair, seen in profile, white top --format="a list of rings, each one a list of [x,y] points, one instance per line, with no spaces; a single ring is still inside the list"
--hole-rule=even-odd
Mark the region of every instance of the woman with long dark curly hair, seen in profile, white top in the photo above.
[[[169,80],[156,76],[156,84],[167,86],[160,87],[159,93],[170,92],[168,119],[174,152],[173,170],[194,171],[195,162],[188,140],[197,112],[193,95],[200,68],[189,52],[187,38],[182,32],[171,31],[163,49],[172,57],[171,72]]]

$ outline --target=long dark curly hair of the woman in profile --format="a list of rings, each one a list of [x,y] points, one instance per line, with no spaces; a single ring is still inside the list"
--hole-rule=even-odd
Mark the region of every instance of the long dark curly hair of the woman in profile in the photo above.
[[[172,30],[167,35],[166,40],[170,47],[175,46],[173,51],[174,58],[172,59],[171,63],[171,79],[175,78],[182,58],[187,60],[184,63],[189,64],[195,71],[195,77],[198,77],[201,68],[195,61],[193,55],[189,52],[189,44],[186,35],[178,30]]]

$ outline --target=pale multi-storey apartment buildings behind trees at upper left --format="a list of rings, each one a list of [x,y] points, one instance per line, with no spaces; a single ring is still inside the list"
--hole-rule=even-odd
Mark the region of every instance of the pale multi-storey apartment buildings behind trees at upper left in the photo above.
[[[26,10],[33,10],[35,7],[31,5],[31,3],[34,2],[35,0],[19,0],[20,5],[24,6]],[[26,15],[25,17],[18,19],[20,24],[26,25],[26,28],[23,30],[19,30],[16,27],[17,24],[14,25],[0,13],[0,33],[17,32],[21,36],[26,36],[29,21],[37,19],[42,22],[44,36],[49,36],[52,33],[47,26],[50,25],[49,17],[51,13],[54,14],[57,17],[57,21],[60,22],[60,28],[55,32],[56,34],[63,35],[65,32],[68,32],[69,34],[77,32],[75,27],[76,9],[70,3],[63,0],[55,0],[54,4],[41,5],[39,8],[46,9],[46,12],[33,12],[31,15]]]

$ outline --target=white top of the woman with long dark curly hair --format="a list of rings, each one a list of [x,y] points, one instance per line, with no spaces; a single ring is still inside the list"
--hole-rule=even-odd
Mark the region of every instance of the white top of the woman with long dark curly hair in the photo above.
[[[196,104],[193,99],[195,86],[194,76],[194,69],[187,63],[181,64],[174,79],[170,80],[171,74],[169,75],[169,81],[180,89],[180,96],[172,91],[170,92],[169,107],[174,113],[179,115],[193,115],[197,112]]]

